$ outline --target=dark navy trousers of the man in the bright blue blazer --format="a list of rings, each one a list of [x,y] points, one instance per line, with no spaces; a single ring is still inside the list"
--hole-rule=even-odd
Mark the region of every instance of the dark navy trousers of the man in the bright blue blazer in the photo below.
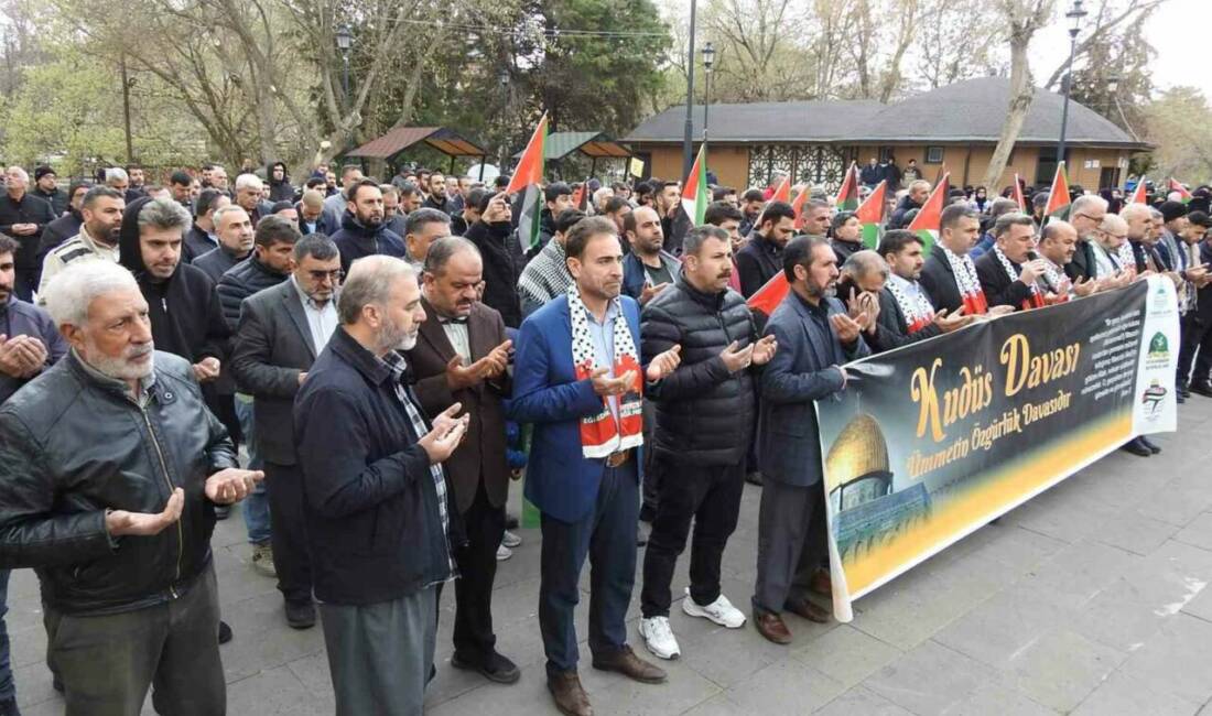
[[[577,669],[573,613],[581,601],[581,567],[589,557],[589,649],[607,655],[627,646],[627,607],[635,584],[639,517],[635,453],[602,468],[594,509],[576,522],[543,514],[538,624],[549,675]]]

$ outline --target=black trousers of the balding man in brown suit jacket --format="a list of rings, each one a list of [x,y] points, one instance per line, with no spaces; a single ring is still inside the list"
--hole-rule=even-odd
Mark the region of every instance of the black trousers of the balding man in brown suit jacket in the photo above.
[[[505,533],[505,508],[492,506],[480,481],[475,499],[463,512],[467,544],[454,550],[459,578],[454,580],[454,653],[478,664],[497,647],[492,631],[492,583],[497,578],[497,548]],[[441,597],[441,585],[438,585]]]

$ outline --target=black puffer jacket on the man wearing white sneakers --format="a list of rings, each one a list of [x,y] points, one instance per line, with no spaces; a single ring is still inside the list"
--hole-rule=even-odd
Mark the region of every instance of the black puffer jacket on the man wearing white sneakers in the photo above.
[[[703,293],[682,275],[644,307],[640,355],[651,360],[681,345],[678,370],[645,388],[657,403],[657,456],[697,465],[744,460],[756,419],[756,368],[728,373],[720,353],[733,340],[744,348],[756,338],[739,293]]]

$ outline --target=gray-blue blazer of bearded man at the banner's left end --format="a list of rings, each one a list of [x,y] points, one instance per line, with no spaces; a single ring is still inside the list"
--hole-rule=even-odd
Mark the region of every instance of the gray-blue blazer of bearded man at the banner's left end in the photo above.
[[[828,315],[844,314],[841,302],[827,299]],[[846,348],[829,326],[828,316],[812,309],[794,292],[778,304],[766,334],[778,340],[774,357],[761,376],[758,459],[767,480],[808,487],[822,477],[821,430],[813,401],[829,400],[842,389],[841,366],[870,351],[859,336]]]

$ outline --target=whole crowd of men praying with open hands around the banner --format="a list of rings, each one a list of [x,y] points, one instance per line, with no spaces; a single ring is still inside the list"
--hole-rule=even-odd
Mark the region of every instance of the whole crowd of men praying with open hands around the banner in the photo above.
[[[669,611],[687,542],[686,614],[751,620],[779,645],[784,613],[830,618],[813,402],[846,390],[846,362],[1155,273],[1184,314],[1178,390],[1212,396],[1212,194],[1196,193],[1202,211],[1119,213],[1081,194],[1068,220],[1044,220],[959,190],[927,250],[898,228],[931,189],[910,168],[867,246],[823,193],[797,212],[713,187],[692,225],[676,182],[553,182],[524,245],[507,178],[319,167],[295,188],[274,162],[230,187],[208,165],[165,187],[115,167],[64,189],[51,167],[34,188],[10,167],[0,614],[8,569],[34,568],[70,715],[138,712],[149,688],[161,714],[222,714],[231,631],[210,538],[242,500],[285,622],[314,626],[319,603],[337,712],[418,714],[447,582],[451,665],[520,678],[496,648],[492,590],[525,472],[547,683],[588,715],[573,617],[587,559],[593,666],[667,678],[625,628],[640,520],[652,655],[680,653]],[[873,160],[862,182],[891,171]],[[777,276],[787,297],[751,310]],[[762,486],[748,614],[720,585],[745,481]],[[7,652],[0,630],[0,715],[17,714]]]

